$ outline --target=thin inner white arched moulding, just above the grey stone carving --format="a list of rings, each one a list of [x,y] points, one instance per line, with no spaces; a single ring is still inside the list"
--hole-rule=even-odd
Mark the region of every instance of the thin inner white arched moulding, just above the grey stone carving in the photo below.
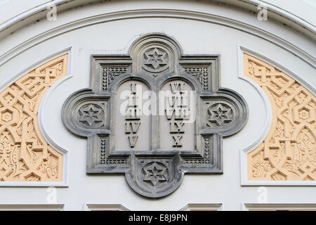
[[[177,9],[143,9],[117,11],[114,13],[103,13],[100,15],[93,15],[87,18],[82,18],[80,20],[74,20],[71,23],[62,24],[52,28],[51,30],[42,32],[41,34],[27,39],[18,46],[15,46],[12,49],[6,51],[0,56],[0,65],[3,65],[4,63],[8,62],[8,60],[11,60],[15,56],[18,56],[20,53],[26,51],[29,48],[32,48],[42,41],[46,41],[47,39],[51,39],[52,37],[56,37],[60,34],[64,34],[72,30],[77,30],[81,27],[86,27],[89,25],[96,25],[98,23],[106,23],[115,20],[127,20],[131,18],[185,18],[188,20],[197,20],[206,23],[214,23],[226,27],[231,27],[237,30],[241,30],[242,32],[253,34],[256,37],[260,37],[261,39],[270,41],[280,48],[289,51],[289,53],[294,54],[298,58],[301,58],[301,60],[305,61],[305,63],[308,63],[313,68],[315,68],[316,59],[309,53],[303,51],[303,49],[298,48],[295,44],[291,44],[289,43],[289,41],[282,39],[281,37],[277,37],[271,32],[266,32],[265,30],[262,30],[260,27],[255,27],[253,25],[242,23],[237,20],[226,18],[220,15]]]

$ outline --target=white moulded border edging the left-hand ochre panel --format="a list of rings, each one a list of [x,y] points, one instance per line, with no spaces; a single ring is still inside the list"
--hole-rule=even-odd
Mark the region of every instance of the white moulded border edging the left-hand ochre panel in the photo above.
[[[55,150],[57,150],[59,153],[61,153],[63,155],[63,169],[62,169],[62,181],[1,181],[0,182],[0,187],[1,186],[27,186],[27,187],[40,187],[40,186],[44,186],[44,187],[48,187],[48,186],[55,186],[55,187],[68,187],[68,171],[69,171],[69,163],[68,163],[68,158],[69,158],[69,153],[67,152],[67,150],[65,150],[64,148],[58,146],[57,143],[55,143],[51,137],[48,135],[48,132],[46,131],[46,129],[43,126],[43,108],[44,105],[46,104],[46,100],[47,98],[51,95],[51,92],[58,86],[60,85],[62,82],[64,82],[66,79],[69,79],[70,77],[72,77],[72,48],[69,47],[67,49],[62,49],[56,53],[53,53],[51,56],[48,56],[42,60],[39,60],[37,63],[33,63],[32,65],[30,65],[28,68],[22,70],[21,72],[18,72],[18,74],[14,75],[13,77],[11,77],[10,79],[8,79],[6,82],[4,82],[4,84],[1,85],[0,87],[0,92],[4,91],[4,89],[6,89],[9,85],[13,84],[13,82],[15,82],[16,80],[20,79],[20,77],[26,75],[27,73],[31,72],[32,70],[38,68],[40,65],[44,65],[45,63],[48,63],[49,61],[58,58],[59,56],[65,55],[66,53],[68,53],[68,63],[67,63],[67,72],[68,74],[66,75],[66,77],[63,77],[62,79],[58,80],[58,82],[56,82],[55,84],[53,84],[51,86],[50,89],[48,89],[48,91],[46,92],[46,94],[44,95],[44,98],[42,98],[41,103],[39,105],[39,130],[41,131],[41,134],[43,135],[45,141],[47,141],[47,143],[54,148]]]

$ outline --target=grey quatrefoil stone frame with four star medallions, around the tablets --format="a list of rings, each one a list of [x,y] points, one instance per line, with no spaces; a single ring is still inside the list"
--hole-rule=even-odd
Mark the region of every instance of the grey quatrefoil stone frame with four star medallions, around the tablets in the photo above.
[[[150,148],[114,150],[115,99],[126,81],[143,82],[159,91],[183,81],[196,91],[194,148],[161,150],[159,117],[150,115]],[[72,94],[62,121],[74,134],[88,138],[87,174],[125,174],[136,193],[149,198],[169,195],[184,174],[223,174],[222,139],[237,133],[248,117],[242,96],[220,88],[218,55],[183,55],[165,34],[147,34],[131,45],[129,55],[91,56],[90,89]],[[122,139],[126,135],[121,134]]]

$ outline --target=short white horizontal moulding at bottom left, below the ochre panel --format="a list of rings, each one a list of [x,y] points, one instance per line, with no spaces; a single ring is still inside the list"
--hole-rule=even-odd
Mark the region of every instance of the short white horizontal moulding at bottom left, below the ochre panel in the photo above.
[[[64,211],[65,204],[0,204],[0,211]]]

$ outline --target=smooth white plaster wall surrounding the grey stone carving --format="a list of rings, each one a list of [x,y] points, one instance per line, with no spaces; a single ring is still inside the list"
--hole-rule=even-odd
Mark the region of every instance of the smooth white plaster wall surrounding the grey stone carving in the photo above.
[[[137,8],[137,4],[131,5]],[[200,11],[212,11],[213,6],[190,3]],[[108,10],[107,5],[98,6],[99,11]],[[100,8],[104,7],[104,8]],[[129,4],[113,4],[112,10],[129,8]],[[115,8],[117,7],[117,8]],[[141,6],[145,7],[145,5]],[[150,5],[154,7],[154,5]],[[166,7],[159,1],[157,8]],[[189,8],[185,4],[169,5],[170,8]],[[207,8],[209,7],[209,8]],[[77,11],[69,11],[60,15],[60,20],[75,20],[81,16],[95,13],[96,8],[86,6]],[[220,8],[216,8],[220,11]],[[243,15],[240,11],[222,8],[220,13],[228,10],[232,15],[241,18],[251,18],[249,23],[258,23],[256,16]],[[228,13],[228,12],[226,12]],[[234,14],[235,13],[235,14]],[[56,21],[53,23],[61,23]],[[264,23],[264,22],[263,22]],[[12,34],[0,41],[1,52],[16,46],[26,37],[50,26],[49,22],[41,21]],[[272,30],[277,23],[265,24]],[[288,39],[300,43],[305,51],[315,53],[315,43],[305,39],[300,34],[278,27],[276,32]],[[241,94],[249,105],[249,120],[238,134],[223,139],[222,175],[185,175],[183,184],[171,195],[158,200],[140,197],[129,188],[123,175],[91,176],[86,175],[86,139],[74,136],[63,126],[61,108],[67,96],[78,89],[89,85],[90,55],[96,53],[127,53],[130,44],[141,34],[162,32],[178,41],[186,54],[220,54],[221,85],[234,89]],[[63,49],[71,48],[70,70],[72,75],[66,79],[47,97],[43,107],[42,126],[48,131],[49,138],[58,146],[68,151],[68,187],[57,188],[57,203],[64,203],[66,210],[83,210],[84,203],[121,204],[129,210],[180,210],[188,203],[223,203],[224,210],[241,210],[242,203],[257,203],[258,187],[241,186],[240,153],[253,143],[261,134],[265,124],[265,103],[258,91],[243,79],[238,78],[239,68],[237,47],[261,53],[274,60],[284,68],[291,70],[310,86],[315,88],[315,68],[289,53],[289,51],[272,44],[261,37],[232,29],[215,23],[180,18],[135,18],[116,20],[96,25],[87,25],[77,30],[65,32],[53,38],[21,51],[14,58],[0,67],[0,86],[8,79],[18,75],[30,65],[51,56]],[[316,203],[315,186],[268,186],[268,203]],[[48,193],[45,187],[0,187],[0,203],[46,203]]]

